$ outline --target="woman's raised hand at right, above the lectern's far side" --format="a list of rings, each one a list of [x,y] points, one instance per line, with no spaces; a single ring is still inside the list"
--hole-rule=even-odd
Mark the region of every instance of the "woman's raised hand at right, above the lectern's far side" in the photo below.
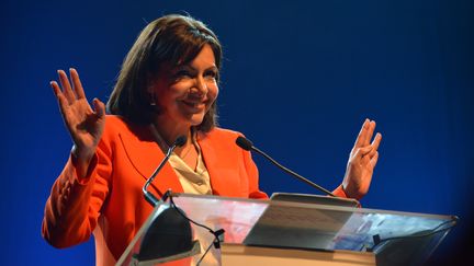
[[[342,181],[342,189],[350,198],[361,199],[369,192],[382,140],[382,135],[377,132],[372,143],[370,142],[374,130],[375,122],[365,119],[350,152]]]

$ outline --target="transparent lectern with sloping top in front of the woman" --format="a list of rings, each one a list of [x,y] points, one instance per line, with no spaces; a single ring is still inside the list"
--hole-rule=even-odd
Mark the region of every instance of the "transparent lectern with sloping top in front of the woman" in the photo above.
[[[168,200],[155,208],[117,265],[159,265],[180,259],[195,263],[207,247],[205,256],[213,256],[213,264],[224,266],[420,265],[456,222],[454,216],[307,201],[188,194],[171,197],[173,204]],[[154,220],[163,209],[174,207],[179,207],[179,215],[185,219],[214,231],[224,230],[221,246],[213,245],[215,235],[207,229],[190,222],[194,236],[183,245],[185,248],[167,257],[140,258],[140,250],[149,251],[144,239]],[[201,265],[206,265],[205,262]]]

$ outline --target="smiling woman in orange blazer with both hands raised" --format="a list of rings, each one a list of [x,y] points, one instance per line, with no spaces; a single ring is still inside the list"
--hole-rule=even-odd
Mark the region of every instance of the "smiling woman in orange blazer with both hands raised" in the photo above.
[[[178,136],[187,136],[154,181],[167,189],[232,197],[267,198],[238,132],[216,127],[222,48],[215,34],[189,16],[167,15],[138,36],[105,105],[86,99],[79,74],[59,70],[52,81],[74,147],[46,203],[43,235],[56,247],[93,233],[97,264],[116,262],[151,212],[142,187]],[[335,194],[361,198],[376,164],[375,123],[365,120]]]

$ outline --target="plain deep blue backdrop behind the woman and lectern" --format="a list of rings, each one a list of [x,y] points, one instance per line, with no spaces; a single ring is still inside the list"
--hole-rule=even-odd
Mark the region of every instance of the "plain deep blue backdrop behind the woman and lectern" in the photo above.
[[[146,22],[184,11],[224,46],[223,127],[334,188],[363,119],[375,119],[383,141],[363,206],[458,215],[433,261],[467,254],[472,1],[8,0],[0,11],[2,264],[93,264],[93,241],[55,250],[41,236],[44,204],[71,147],[48,82],[75,67],[89,99],[106,101]],[[313,193],[256,161],[269,194]]]

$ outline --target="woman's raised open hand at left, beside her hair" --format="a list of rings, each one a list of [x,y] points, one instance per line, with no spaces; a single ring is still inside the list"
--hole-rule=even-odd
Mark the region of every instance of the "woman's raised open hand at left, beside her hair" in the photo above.
[[[71,68],[69,73],[71,82],[65,71],[58,70],[60,86],[56,81],[52,81],[50,85],[74,141],[72,155],[78,163],[79,172],[86,175],[105,126],[105,105],[94,99],[92,109],[86,99],[78,72]]]

